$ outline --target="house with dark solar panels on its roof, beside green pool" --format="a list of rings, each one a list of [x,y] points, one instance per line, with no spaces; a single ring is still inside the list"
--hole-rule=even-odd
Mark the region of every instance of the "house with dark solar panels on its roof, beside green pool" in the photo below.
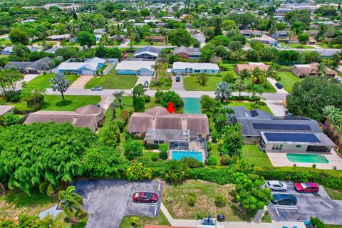
[[[262,110],[226,107],[230,123],[242,125],[247,144],[257,144],[266,152],[330,152],[335,144],[322,133],[316,120],[304,117],[274,117]]]

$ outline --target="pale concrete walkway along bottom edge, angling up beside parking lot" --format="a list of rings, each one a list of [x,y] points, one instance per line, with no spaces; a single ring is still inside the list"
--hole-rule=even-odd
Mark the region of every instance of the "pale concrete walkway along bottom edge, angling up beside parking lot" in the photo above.
[[[192,219],[173,219],[171,214],[167,211],[164,204],[161,204],[160,209],[162,213],[167,218],[167,221],[174,227],[197,227],[201,225],[200,220],[192,220]],[[262,217],[261,217],[262,219]],[[282,228],[283,226],[292,228],[296,226],[298,228],[305,228],[304,222],[274,222],[271,223],[256,223],[256,222],[217,222],[217,228],[224,227],[224,228]]]

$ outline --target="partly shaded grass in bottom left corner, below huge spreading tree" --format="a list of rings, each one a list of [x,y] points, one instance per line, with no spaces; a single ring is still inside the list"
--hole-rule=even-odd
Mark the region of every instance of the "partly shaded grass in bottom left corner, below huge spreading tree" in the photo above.
[[[52,207],[58,199],[48,197],[40,192],[31,192],[31,196],[26,195],[21,190],[9,190],[0,197],[0,219],[13,218],[19,214],[34,215],[45,209]]]

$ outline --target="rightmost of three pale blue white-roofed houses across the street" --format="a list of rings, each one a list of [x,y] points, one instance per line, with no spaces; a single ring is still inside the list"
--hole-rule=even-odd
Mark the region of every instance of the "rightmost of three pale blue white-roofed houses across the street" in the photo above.
[[[181,75],[184,73],[219,73],[219,66],[214,63],[173,63],[172,72]]]

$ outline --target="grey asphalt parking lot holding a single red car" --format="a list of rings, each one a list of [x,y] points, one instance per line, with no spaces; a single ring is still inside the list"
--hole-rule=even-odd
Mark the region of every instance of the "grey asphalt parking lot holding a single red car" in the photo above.
[[[160,211],[162,184],[155,181],[129,182],[125,180],[78,180],[76,192],[83,197],[89,213],[86,227],[119,227],[126,215],[157,217]],[[133,203],[133,193],[157,192],[155,203]]]

